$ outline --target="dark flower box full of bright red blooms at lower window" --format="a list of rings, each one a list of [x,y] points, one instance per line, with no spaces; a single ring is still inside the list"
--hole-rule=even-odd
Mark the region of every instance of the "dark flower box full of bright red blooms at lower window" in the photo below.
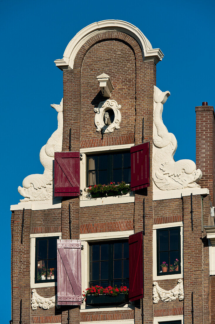
[[[129,301],[128,288],[126,286],[103,288],[102,286],[92,286],[83,291],[83,297],[86,301],[86,305],[113,305],[123,304]]]

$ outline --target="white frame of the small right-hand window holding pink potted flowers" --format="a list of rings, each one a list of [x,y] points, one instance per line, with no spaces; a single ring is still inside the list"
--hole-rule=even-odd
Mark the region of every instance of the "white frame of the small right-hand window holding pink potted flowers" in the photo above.
[[[158,228],[167,227],[181,227],[181,273],[167,274],[164,276],[157,275],[157,236],[156,231]],[[179,279],[183,278],[183,222],[156,224],[153,226],[153,280],[167,280],[167,279]]]

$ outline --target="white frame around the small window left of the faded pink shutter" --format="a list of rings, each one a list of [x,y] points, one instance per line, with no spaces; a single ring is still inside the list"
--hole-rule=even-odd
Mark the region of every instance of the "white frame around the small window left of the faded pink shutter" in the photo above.
[[[51,283],[39,283],[35,284],[35,248],[36,248],[36,237],[52,237],[59,236],[62,237],[62,233],[41,233],[41,234],[30,234],[30,255],[31,255],[31,263],[30,263],[30,281],[31,288],[39,288],[39,287],[54,287],[57,286],[57,282]]]

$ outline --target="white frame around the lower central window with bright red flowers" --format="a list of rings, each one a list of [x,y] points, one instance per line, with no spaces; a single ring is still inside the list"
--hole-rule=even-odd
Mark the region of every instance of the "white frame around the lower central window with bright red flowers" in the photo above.
[[[90,234],[80,234],[81,244],[83,249],[81,250],[81,290],[82,292],[88,287],[90,281],[90,242],[101,242],[110,240],[120,240],[128,238],[129,235],[134,234],[134,231],[118,231],[118,232],[103,232],[103,233],[90,233]],[[100,306],[98,307],[87,307],[85,306],[85,301],[81,304],[81,312],[90,311],[111,311],[111,310],[124,310],[124,309],[134,309],[132,305],[124,305],[123,307],[113,307],[113,306]],[[103,323],[103,321],[101,321]],[[106,322],[105,322],[106,323]],[[124,323],[124,322],[123,322]],[[130,323],[130,322],[129,322]],[[134,323],[131,322],[131,323]]]

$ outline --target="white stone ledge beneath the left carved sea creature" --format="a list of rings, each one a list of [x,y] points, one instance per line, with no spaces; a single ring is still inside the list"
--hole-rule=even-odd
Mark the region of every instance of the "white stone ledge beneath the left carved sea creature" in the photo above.
[[[57,199],[56,199],[57,198]],[[56,197],[54,200],[46,200],[46,201],[37,201],[37,202],[25,202],[25,203],[18,203],[17,205],[11,205],[10,210],[23,210],[31,209],[31,210],[44,210],[44,209],[54,209],[54,208],[61,208],[61,197]]]

